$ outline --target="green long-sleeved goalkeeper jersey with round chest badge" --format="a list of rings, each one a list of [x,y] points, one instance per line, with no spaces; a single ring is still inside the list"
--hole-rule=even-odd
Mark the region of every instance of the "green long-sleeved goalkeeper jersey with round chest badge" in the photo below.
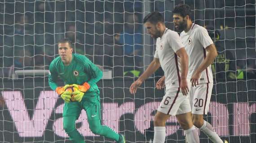
[[[65,84],[83,85],[87,82],[91,87],[83,98],[98,98],[99,89],[96,83],[102,78],[102,71],[86,56],[72,54],[72,61],[68,66],[63,64],[61,57],[53,59],[49,67],[49,85],[53,90],[58,87],[58,76]]]

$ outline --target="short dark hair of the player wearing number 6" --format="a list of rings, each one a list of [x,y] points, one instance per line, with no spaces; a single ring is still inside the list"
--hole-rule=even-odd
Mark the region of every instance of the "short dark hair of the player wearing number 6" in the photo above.
[[[143,23],[150,22],[152,24],[157,24],[158,22],[164,23],[164,18],[161,13],[154,11],[146,15],[143,19]]]

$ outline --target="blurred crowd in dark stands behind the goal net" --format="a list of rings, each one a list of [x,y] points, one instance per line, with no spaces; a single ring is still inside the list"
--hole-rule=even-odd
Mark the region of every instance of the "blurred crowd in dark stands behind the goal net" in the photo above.
[[[75,53],[86,55],[103,69],[112,70],[114,77],[139,76],[144,70],[147,50],[142,1],[128,0],[115,5],[79,2],[82,3],[77,1],[75,7],[67,6],[74,5],[72,0],[56,3],[58,6],[50,1],[25,6],[16,3],[14,9],[11,3],[1,4],[0,16],[4,21],[0,23],[0,39],[3,39],[0,76],[11,79],[15,70],[47,70],[58,56],[57,42],[62,38],[74,43]],[[240,56],[228,42],[219,40],[219,31],[212,27],[207,29],[219,52],[212,64],[214,76],[219,79],[256,78],[256,58]],[[151,46],[154,46],[152,42]],[[155,73],[155,76],[161,75],[161,70]]]

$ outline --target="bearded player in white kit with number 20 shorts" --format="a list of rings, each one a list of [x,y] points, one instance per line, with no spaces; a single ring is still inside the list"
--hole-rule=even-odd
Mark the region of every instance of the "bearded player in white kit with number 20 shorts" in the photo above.
[[[203,131],[213,143],[223,143],[213,130],[212,125],[203,119],[203,115],[208,112],[212,95],[211,64],[217,56],[216,47],[207,30],[192,23],[188,5],[178,4],[172,13],[175,28],[182,31],[181,41],[189,55],[188,77],[192,83],[190,105],[193,124]],[[158,89],[163,88],[163,81],[164,77],[159,79],[156,85]],[[224,140],[224,143],[227,143],[227,141]]]

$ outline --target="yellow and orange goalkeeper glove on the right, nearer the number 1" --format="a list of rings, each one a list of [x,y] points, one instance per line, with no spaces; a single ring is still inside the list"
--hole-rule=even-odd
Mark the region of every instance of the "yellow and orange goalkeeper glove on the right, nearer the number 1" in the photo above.
[[[72,85],[78,89],[72,93],[75,95],[72,98],[75,99],[75,101],[81,102],[84,96],[84,93],[90,88],[90,85],[87,82],[85,82],[83,85],[77,85],[77,84],[72,84]]]

